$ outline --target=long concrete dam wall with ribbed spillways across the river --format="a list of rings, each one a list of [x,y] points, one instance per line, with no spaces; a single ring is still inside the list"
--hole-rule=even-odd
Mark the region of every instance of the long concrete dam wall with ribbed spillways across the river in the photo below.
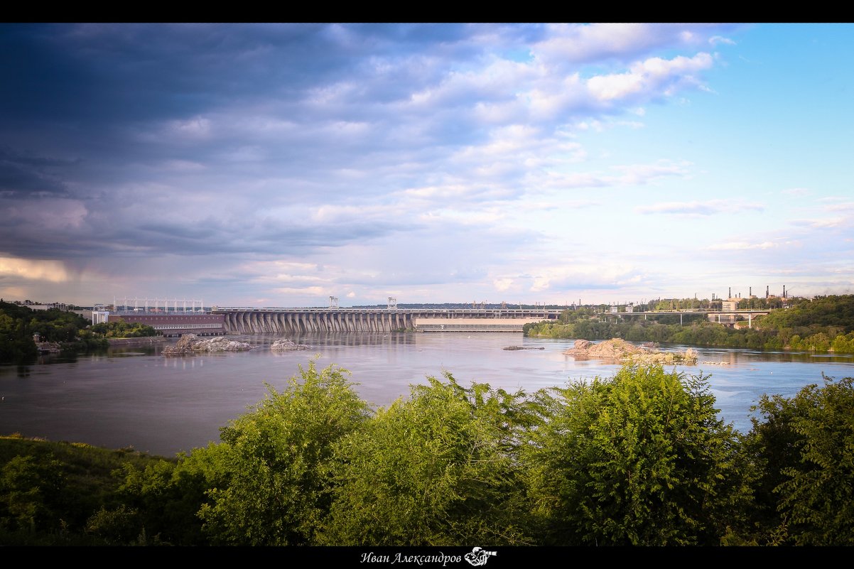
[[[557,319],[545,308],[220,308],[229,334],[302,332],[522,331],[529,322]]]

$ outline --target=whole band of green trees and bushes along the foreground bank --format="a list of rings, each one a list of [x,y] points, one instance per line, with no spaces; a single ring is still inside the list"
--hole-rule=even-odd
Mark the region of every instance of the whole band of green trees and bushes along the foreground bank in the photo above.
[[[0,543],[854,544],[852,378],[764,397],[742,436],[660,366],[534,394],[446,373],[374,410],[311,361],[220,438],[0,439]]]

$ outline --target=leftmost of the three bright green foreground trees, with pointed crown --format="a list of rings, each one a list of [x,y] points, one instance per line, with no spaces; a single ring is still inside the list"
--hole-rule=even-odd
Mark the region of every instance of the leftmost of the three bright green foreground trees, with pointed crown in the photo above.
[[[213,543],[303,545],[315,534],[332,500],[329,462],[335,443],[371,415],[348,374],[311,361],[279,393],[220,429],[208,490],[199,515]],[[187,459],[196,460],[196,453]]]

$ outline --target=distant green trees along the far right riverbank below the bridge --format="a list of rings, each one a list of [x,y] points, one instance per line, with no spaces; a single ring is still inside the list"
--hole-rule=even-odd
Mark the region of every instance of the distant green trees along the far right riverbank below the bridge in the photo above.
[[[557,322],[526,324],[524,332],[528,336],[586,340],[621,337],[633,342],[854,353],[854,295],[800,300],[789,308],[754,317],[750,328],[721,326],[705,320],[703,314],[683,314],[682,325],[678,316],[654,318],[566,310]]]

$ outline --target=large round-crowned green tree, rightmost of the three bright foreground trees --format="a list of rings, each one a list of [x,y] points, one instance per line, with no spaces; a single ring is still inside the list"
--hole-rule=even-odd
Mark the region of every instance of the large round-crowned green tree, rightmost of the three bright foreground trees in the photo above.
[[[706,378],[623,367],[548,405],[527,455],[546,543],[717,544],[743,522],[750,471]]]

